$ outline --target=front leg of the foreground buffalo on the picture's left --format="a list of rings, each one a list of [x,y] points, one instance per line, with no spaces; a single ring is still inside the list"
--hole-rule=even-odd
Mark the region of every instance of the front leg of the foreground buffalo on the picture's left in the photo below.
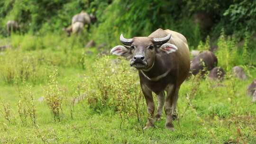
[[[147,123],[144,129],[147,129],[149,127],[154,126],[154,111],[155,111],[155,104],[154,104],[154,99],[152,97],[152,91],[149,90],[146,85],[141,84],[141,90],[143,92],[143,95],[146,99],[146,106],[147,106]]]

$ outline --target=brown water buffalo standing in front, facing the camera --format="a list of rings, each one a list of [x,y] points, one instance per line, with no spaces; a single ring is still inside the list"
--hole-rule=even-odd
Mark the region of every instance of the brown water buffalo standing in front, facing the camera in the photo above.
[[[153,126],[155,119],[160,119],[165,105],[167,116],[165,127],[174,130],[172,120],[179,89],[187,78],[190,68],[186,38],[175,31],[159,28],[147,37],[127,39],[121,35],[120,41],[123,45],[113,47],[110,53],[130,59],[130,65],[138,70],[140,86],[149,114],[144,129]],[[152,92],[158,99],[156,116]]]

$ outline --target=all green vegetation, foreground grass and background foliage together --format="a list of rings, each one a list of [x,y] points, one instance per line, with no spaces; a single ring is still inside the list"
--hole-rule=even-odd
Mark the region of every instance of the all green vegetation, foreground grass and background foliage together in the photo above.
[[[82,9],[98,21],[67,37],[62,28]],[[209,25],[197,21],[201,14]],[[7,36],[9,19],[19,33]],[[255,0],[0,0],[0,46],[9,46],[0,51],[0,143],[255,144],[256,104],[246,94],[256,78],[255,23]],[[182,33],[191,50],[217,45],[226,71],[223,81],[183,83],[174,132],[165,115],[142,130],[137,71],[108,55],[121,33],[146,36],[159,27]],[[97,45],[85,47],[91,39]],[[233,75],[236,65],[247,80]]]

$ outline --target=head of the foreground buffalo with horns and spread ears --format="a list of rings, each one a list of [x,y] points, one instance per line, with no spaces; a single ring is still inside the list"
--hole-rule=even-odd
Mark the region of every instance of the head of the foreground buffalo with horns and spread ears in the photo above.
[[[133,37],[124,38],[120,35],[120,42],[123,45],[117,45],[110,51],[111,54],[124,56],[130,59],[130,65],[139,70],[149,70],[155,62],[155,55],[158,53],[170,54],[178,48],[167,43],[171,34],[163,38],[154,37]]]

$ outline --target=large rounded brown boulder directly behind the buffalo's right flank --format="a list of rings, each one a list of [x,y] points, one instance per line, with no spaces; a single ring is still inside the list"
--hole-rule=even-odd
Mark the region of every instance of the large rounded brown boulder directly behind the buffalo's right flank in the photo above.
[[[212,70],[218,64],[217,57],[210,51],[204,51],[193,58],[190,65],[190,72],[193,75],[205,74],[206,71]]]

